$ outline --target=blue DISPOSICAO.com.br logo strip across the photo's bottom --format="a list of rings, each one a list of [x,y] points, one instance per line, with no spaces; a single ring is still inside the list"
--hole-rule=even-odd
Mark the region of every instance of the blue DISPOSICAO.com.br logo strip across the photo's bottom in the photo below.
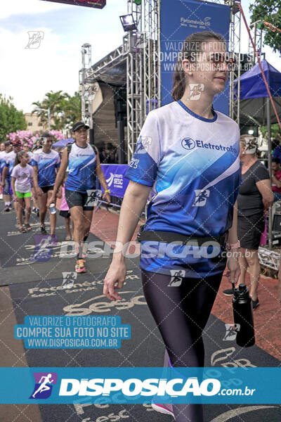
[[[0,404],[281,404],[281,368],[0,368]]]

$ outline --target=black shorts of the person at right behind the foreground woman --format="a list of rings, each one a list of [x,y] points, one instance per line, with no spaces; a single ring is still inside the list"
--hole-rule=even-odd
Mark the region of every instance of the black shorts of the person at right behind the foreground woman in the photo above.
[[[241,248],[259,249],[264,228],[263,212],[244,217],[238,215],[237,235]]]

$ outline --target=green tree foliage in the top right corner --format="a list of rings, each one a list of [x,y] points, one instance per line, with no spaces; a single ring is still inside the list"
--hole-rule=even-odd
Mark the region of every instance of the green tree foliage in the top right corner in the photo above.
[[[254,0],[249,6],[251,23],[256,20],[266,20],[277,28],[281,28],[281,0]],[[264,44],[270,46],[273,51],[281,53],[281,32],[269,30],[264,27]]]

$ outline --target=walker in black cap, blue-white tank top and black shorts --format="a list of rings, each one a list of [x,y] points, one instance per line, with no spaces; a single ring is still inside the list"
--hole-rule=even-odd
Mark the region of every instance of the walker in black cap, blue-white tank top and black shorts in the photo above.
[[[87,130],[83,122],[77,122],[72,128],[72,137],[75,142],[63,151],[60,170],[55,179],[53,195],[48,200],[51,204],[55,200],[58,189],[63,184],[68,165],[68,174],[65,182],[65,199],[70,208],[70,215],[74,223],[73,239],[77,252],[75,271],[86,272],[86,240],[89,236],[93,217],[93,196],[96,192],[96,177],[105,190],[103,199],[110,203],[110,189],[107,187],[105,175],[100,167],[100,159],[96,147],[87,143]]]

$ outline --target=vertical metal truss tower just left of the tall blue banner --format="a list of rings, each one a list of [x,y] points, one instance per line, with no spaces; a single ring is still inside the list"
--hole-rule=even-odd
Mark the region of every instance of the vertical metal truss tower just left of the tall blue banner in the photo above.
[[[128,1],[137,31],[129,32],[127,56],[128,162],[147,113],[161,106],[159,0]]]

